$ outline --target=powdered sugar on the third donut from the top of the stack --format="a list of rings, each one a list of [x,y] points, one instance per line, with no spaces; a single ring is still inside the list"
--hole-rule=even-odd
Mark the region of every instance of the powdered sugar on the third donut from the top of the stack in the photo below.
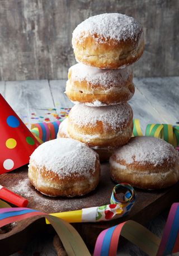
[[[95,126],[98,121],[103,123],[104,128],[112,128],[114,131],[123,129],[133,117],[133,110],[128,103],[110,106],[87,106],[84,104],[74,105],[69,112],[69,118],[79,127],[91,124]]]

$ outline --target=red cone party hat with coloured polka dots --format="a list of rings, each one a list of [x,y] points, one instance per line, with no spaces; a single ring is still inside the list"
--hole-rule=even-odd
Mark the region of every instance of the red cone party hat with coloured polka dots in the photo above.
[[[0,94],[0,174],[29,163],[40,143]]]

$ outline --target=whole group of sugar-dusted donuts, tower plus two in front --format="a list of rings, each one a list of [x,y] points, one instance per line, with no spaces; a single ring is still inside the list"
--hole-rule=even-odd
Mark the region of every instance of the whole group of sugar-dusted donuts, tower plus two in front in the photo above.
[[[79,63],[69,68],[65,93],[75,105],[60,124],[58,138],[32,153],[32,185],[52,197],[82,196],[97,187],[100,160],[109,158],[117,183],[143,189],[175,184],[175,148],[159,138],[131,138],[133,110],[127,101],[134,85],[129,66],[143,53],[142,27],[132,17],[105,13],[79,24],[72,44]]]

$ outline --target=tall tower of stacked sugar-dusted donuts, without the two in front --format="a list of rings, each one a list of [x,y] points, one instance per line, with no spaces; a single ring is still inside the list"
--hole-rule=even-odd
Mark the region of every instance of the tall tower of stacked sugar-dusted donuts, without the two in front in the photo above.
[[[129,65],[143,53],[143,29],[132,17],[104,13],[79,24],[72,45],[78,64],[69,68],[65,93],[76,105],[58,137],[84,142],[107,161],[133,132],[127,101],[135,89]]]

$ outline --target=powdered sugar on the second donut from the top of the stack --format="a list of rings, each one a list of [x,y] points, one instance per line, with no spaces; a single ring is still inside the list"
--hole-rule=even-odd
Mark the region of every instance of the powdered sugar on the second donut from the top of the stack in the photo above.
[[[72,81],[87,81],[91,87],[100,85],[104,90],[111,87],[122,87],[126,85],[132,71],[129,67],[123,69],[100,69],[82,63],[75,64],[69,68]]]

